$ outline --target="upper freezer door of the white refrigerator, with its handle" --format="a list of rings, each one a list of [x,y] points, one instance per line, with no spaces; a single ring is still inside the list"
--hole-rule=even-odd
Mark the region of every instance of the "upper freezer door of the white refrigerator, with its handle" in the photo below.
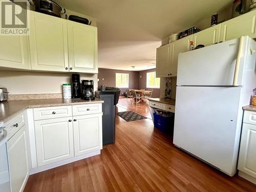
[[[233,86],[234,71],[241,50],[237,86],[242,83],[244,58],[249,37],[221,42],[205,48],[180,53],[178,58],[178,86]]]

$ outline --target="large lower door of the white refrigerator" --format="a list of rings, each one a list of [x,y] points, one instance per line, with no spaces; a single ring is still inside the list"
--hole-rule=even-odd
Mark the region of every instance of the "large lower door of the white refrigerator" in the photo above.
[[[241,89],[177,87],[176,93],[174,144],[230,176],[237,170]]]

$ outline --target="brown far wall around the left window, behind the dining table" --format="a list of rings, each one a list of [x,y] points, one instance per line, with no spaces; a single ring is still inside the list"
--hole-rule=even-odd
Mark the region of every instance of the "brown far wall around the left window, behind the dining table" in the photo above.
[[[102,69],[99,68],[98,78],[98,89],[100,86],[116,87],[116,73],[128,73],[129,74],[129,89],[138,89],[138,71],[125,71],[125,70],[114,70],[114,69]],[[102,78],[104,80],[102,80]],[[120,89],[120,96],[125,96],[126,89]]]

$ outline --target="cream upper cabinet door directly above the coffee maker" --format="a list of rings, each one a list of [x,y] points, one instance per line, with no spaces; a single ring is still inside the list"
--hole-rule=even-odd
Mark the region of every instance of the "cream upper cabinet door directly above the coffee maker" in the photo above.
[[[97,28],[68,21],[71,72],[98,73]]]

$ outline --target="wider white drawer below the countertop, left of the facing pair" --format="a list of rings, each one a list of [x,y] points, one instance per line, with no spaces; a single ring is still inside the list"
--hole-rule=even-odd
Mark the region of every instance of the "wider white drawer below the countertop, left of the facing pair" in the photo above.
[[[49,108],[33,109],[34,120],[53,119],[72,116],[72,106],[51,106]]]

